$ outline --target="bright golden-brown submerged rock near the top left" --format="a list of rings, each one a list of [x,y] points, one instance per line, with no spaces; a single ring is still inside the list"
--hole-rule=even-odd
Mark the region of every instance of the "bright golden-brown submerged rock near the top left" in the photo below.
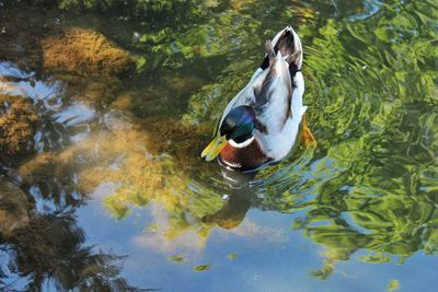
[[[70,27],[42,40],[43,67],[83,75],[119,75],[134,69],[130,55],[104,35]]]

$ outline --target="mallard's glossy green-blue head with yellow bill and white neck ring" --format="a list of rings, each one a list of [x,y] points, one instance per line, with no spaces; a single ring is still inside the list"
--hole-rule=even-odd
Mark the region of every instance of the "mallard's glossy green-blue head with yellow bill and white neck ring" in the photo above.
[[[216,133],[215,139],[204,149],[200,156],[214,160],[230,142],[232,145],[245,145],[253,140],[255,113],[251,106],[238,106],[230,110]]]

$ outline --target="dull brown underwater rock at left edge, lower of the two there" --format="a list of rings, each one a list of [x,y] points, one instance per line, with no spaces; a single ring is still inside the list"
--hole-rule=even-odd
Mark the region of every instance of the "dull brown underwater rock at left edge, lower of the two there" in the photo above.
[[[16,185],[0,178],[0,236],[9,237],[16,229],[26,226],[30,201]]]

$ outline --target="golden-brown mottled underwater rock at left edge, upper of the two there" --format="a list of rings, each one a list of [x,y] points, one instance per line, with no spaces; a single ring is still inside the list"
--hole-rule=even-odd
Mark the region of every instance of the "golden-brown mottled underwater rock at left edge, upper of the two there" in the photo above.
[[[32,152],[37,121],[30,100],[0,95],[0,151],[5,154]]]

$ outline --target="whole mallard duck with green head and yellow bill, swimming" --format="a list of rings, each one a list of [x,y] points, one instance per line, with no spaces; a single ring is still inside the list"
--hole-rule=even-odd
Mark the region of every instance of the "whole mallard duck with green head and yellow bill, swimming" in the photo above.
[[[228,168],[251,172],[281,161],[295,144],[307,109],[301,40],[287,26],[265,49],[262,66],[224,108],[201,153],[206,161],[218,156]]]

